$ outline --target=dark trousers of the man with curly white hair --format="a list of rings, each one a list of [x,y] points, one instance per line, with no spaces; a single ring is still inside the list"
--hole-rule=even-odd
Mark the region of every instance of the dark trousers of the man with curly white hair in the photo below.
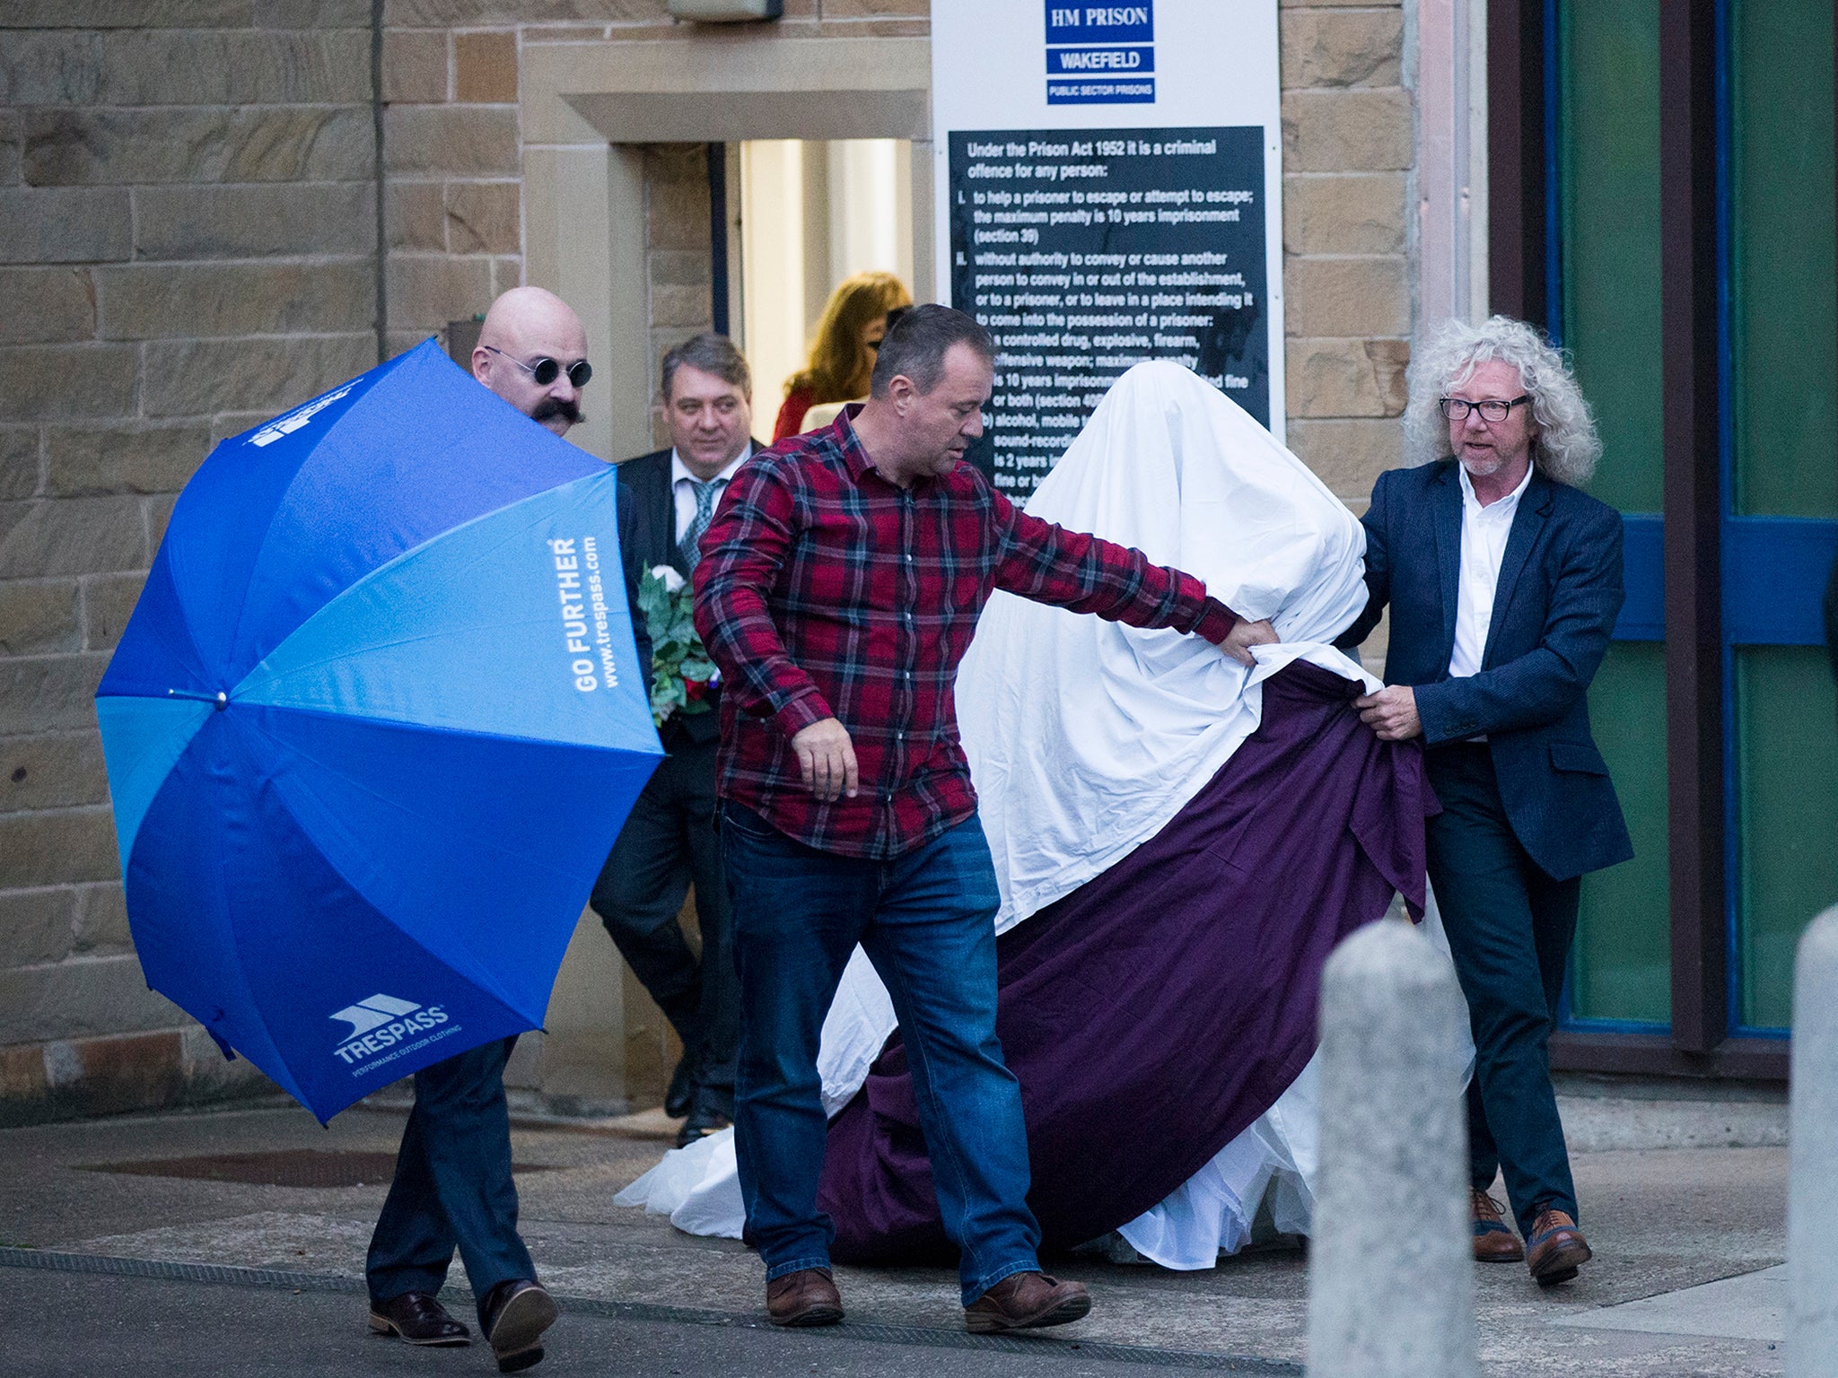
[[[1430,884],[1474,1027],[1470,1180],[1485,1191],[1503,1172],[1531,1235],[1540,1209],[1577,1218],[1548,1049],[1583,882],[1553,880],[1518,845],[1483,742],[1439,746],[1426,761],[1443,803],[1428,823]]]

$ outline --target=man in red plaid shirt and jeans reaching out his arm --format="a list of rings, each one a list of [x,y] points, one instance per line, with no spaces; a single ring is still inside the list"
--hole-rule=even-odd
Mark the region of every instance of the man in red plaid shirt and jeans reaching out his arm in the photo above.
[[[1276,641],[1141,551],[1015,509],[963,452],[994,345],[915,307],[869,401],[755,456],[702,537],[695,621],[720,665],[722,854],[741,976],[735,1146],[746,1238],[777,1325],[834,1325],[816,1209],[823,1016],[860,943],[893,998],[945,1229],[976,1332],[1084,1316],[1040,1273],[1020,1088],[996,1042],[1000,904],[952,689],[996,588],[1250,663]]]

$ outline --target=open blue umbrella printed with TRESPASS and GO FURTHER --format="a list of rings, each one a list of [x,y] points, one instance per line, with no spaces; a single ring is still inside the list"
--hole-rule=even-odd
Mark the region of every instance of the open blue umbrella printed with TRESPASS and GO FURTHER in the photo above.
[[[542,1023],[662,755],[614,496],[428,342],[178,498],[96,693],[134,946],[322,1121]]]

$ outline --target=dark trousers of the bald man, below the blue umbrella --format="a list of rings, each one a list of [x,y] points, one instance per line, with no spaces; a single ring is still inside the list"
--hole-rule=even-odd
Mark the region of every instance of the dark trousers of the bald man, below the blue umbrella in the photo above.
[[[511,1181],[504,1064],[515,1045],[500,1038],[415,1073],[415,1108],[364,1266],[371,1301],[439,1292],[458,1248],[483,1327],[491,1288],[537,1275]]]

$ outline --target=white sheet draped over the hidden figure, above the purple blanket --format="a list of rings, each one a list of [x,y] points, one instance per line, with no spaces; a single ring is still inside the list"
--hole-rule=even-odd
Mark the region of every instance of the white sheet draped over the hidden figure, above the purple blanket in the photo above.
[[[996,593],[958,674],[980,814],[1002,887],[996,930],[1022,922],[1154,836],[1252,731],[1259,685],[1294,660],[1378,682],[1325,645],[1366,606],[1366,533],[1246,412],[1176,364],[1110,390],[1027,511],[1143,549],[1276,623],[1255,671],[1206,641],[1143,632]],[[893,1033],[860,950],[823,1023],[823,1108],[836,1113]],[[1276,1191],[1305,1233],[1314,1191],[1314,1062],[1244,1134],[1123,1237],[1167,1268],[1211,1268]],[[732,1132],[665,1154],[616,1198],[691,1233],[741,1233]]]

